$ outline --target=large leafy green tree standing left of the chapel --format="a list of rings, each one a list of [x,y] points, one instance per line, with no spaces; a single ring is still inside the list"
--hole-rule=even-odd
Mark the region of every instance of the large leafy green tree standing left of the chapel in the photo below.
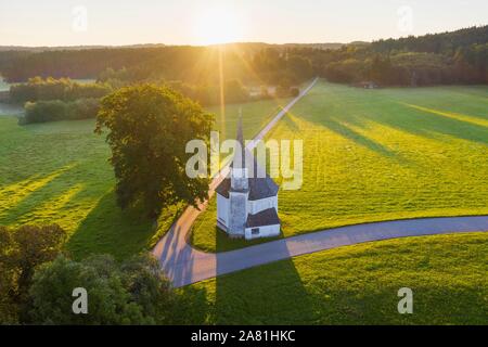
[[[95,132],[108,129],[119,205],[143,203],[151,216],[178,202],[208,197],[207,178],[191,179],[190,140],[208,143],[214,117],[180,93],[152,85],[123,88],[101,102]]]

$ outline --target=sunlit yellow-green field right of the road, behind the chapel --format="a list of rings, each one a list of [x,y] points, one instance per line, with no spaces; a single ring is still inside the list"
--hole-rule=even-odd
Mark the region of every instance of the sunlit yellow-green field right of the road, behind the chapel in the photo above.
[[[318,83],[271,131],[304,141],[304,184],[279,193],[283,235],[344,224],[488,215],[488,87],[363,90]],[[194,227],[206,250],[247,245]]]

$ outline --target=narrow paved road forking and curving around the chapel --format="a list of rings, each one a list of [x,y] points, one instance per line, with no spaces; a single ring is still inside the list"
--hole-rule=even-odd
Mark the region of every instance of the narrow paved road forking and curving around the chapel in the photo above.
[[[256,142],[262,139],[290,108],[308,93],[317,80],[314,79],[300,95],[286,105],[249,143],[248,147],[254,147]],[[222,175],[214,179],[209,188],[210,196],[226,175],[227,170],[222,170]],[[406,219],[334,228],[242,249],[210,254],[194,249],[187,242],[191,227],[204,210],[205,204],[200,207],[201,210],[193,207],[187,208],[153,249],[162,269],[177,287],[290,257],[358,243],[488,231],[488,216]]]

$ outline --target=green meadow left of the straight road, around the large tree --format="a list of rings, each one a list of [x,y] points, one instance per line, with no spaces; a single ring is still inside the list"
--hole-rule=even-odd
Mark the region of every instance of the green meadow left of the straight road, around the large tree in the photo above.
[[[246,133],[257,132],[280,102],[228,105],[227,121],[218,115],[216,128],[226,125],[233,138],[242,107]],[[77,258],[124,258],[157,241],[181,206],[164,211],[157,230],[138,211],[123,213],[110,149],[93,128],[93,119],[18,126],[15,117],[0,116],[0,224],[59,223],[70,233],[68,249]]]

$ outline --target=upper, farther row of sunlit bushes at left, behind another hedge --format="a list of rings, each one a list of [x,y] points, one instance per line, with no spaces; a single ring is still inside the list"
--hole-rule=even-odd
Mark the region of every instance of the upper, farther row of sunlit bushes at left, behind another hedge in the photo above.
[[[101,98],[108,94],[112,88],[106,83],[79,83],[68,78],[54,79],[48,77],[29,78],[26,83],[10,87],[10,99],[14,103],[36,101],[75,101],[78,99]]]

